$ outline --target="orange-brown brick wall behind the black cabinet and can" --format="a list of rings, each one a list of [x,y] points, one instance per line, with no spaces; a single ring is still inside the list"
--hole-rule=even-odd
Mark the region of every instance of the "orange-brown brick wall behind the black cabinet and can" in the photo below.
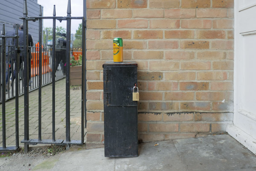
[[[224,132],[233,121],[233,0],[87,0],[87,148],[104,139],[102,64],[114,37],[138,63],[139,139]],[[224,101],[225,100],[225,101]]]

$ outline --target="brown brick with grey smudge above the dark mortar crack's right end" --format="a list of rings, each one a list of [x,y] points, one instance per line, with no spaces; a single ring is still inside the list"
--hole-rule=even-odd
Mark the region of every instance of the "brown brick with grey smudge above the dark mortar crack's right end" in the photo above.
[[[180,110],[210,110],[209,102],[182,102]]]

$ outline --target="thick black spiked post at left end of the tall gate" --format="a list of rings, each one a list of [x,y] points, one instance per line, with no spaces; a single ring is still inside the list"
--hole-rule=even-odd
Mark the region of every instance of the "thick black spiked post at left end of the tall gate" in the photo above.
[[[23,3],[23,17],[28,16],[27,3]],[[29,141],[29,55],[28,55],[28,21],[23,19],[23,53],[24,53],[24,140]],[[29,152],[29,143],[24,143],[25,153]]]

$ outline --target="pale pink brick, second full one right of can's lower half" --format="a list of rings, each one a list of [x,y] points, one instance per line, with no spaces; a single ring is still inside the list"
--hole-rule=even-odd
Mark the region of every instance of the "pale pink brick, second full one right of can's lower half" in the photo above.
[[[195,52],[188,51],[165,51],[165,59],[189,60],[195,58]]]

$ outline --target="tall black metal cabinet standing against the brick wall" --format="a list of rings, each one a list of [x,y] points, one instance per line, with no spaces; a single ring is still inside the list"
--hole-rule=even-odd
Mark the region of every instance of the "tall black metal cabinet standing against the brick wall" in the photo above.
[[[106,62],[103,81],[105,157],[138,157],[137,63]]]

